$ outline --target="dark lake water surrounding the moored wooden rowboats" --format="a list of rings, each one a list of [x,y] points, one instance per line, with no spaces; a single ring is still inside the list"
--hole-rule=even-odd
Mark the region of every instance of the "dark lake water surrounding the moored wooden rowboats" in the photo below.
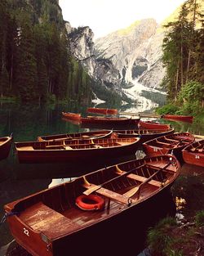
[[[122,111],[124,110],[122,109]],[[36,140],[38,135],[91,130],[91,128],[82,128],[78,124],[64,121],[61,111],[82,113],[86,116],[86,107],[82,106],[15,106],[2,104],[0,106],[0,137],[8,136],[13,132],[14,141],[33,141]],[[162,122],[171,124],[177,132],[188,131],[204,135],[204,128],[197,124],[167,120],[162,120]],[[116,161],[122,162],[123,160],[143,156],[143,152],[139,151],[136,155],[130,155],[124,159],[107,159],[103,164],[19,164],[14,153],[12,147],[8,159],[0,162],[0,220],[4,215],[4,204],[67,181],[70,177],[78,177],[97,168],[114,164]],[[167,213],[171,215],[177,213],[180,218],[193,216],[197,210],[203,209],[203,205],[204,168],[184,164],[180,177],[172,186],[171,195],[155,205],[157,210],[154,213],[153,209],[149,209],[149,214],[152,213],[154,218],[152,222],[148,223],[148,227],[153,226],[154,222],[157,222]],[[141,222],[145,222],[143,216],[140,216],[140,218]],[[144,230],[140,230],[140,235],[144,239],[148,227],[144,223]],[[7,222],[4,222],[0,225],[0,256],[7,254],[6,247],[12,240]],[[144,245],[140,241],[140,245],[138,249],[135,248],[133,255],[139,254],[140,250],[145,247]],[[14,255],[21,255],[21,251],[19,250],[19,253],[15,251]]]

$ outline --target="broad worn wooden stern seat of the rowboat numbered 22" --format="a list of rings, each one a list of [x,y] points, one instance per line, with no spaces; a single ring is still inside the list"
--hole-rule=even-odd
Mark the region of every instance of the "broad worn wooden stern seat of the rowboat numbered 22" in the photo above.
[[[20,218],[33,231],[41,231],[51,239],[63,236],[64,232],[71,232],[80,227],[71,219],[66,218],[63,214],[56,212],[42,202],[33,204],[29,209],[20,213]]]

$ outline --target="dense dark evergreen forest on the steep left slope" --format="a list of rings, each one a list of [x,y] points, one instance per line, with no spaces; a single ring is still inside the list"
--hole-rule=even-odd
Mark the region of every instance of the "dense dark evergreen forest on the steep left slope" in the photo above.
[[[91,101],[91,78],[70,53],[56,0],[0,1],[0,97]]]

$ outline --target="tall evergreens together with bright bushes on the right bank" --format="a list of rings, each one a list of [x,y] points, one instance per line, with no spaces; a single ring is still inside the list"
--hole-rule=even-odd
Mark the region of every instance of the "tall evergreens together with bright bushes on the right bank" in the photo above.
[[[168,105],[159,114],[199,115],[204,111],[204,14],[197,0],[187,0],[174,22],[165,25],[162,87]]]

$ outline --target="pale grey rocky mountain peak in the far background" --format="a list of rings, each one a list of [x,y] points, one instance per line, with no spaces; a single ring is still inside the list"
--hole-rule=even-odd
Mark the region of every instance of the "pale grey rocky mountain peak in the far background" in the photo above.
[[[164,75],[162,68],[162,29],[155,20],[135,22],[95,41],[95,56],[113,61],[122,84],[139,80],[145,86],[157,88]]]

